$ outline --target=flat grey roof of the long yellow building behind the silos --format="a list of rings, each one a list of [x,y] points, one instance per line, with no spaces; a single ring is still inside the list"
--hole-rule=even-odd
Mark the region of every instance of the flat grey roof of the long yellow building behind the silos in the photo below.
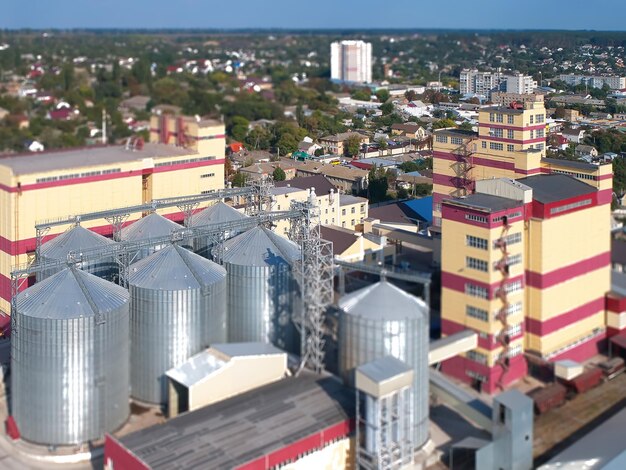
[[[101,166],[114,163],[142,161],[145,158],[179,157],[195,154],[191,149],[166,144],[144,144],[141,150],[127,150],[123,145],[87,147],[52,152],[37,152],[0,157],[0,166],[16,175],[44,173],[55,170]]]

